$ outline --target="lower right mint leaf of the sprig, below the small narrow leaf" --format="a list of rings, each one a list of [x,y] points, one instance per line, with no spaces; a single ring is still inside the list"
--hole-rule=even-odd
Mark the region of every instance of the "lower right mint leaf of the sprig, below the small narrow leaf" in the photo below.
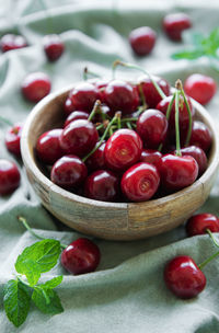
[[[58,314],[64,312],[60,299],[57,292],[53,289],[45,289],[41,286],[34,287],[32,300],[35,306],[44,313]]]

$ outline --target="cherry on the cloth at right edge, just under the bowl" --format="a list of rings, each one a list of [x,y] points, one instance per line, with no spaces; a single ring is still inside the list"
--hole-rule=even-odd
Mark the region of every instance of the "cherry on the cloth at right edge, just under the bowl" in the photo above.
[[[219,232],[219,218],[216,215],[203,213],[192,216],[186,223],[188,236],[205,234],[206,230]]]

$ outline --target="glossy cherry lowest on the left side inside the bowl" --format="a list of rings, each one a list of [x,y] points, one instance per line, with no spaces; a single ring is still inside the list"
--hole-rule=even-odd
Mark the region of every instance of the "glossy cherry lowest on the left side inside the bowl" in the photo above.
[[[85,164],[73,154],[64,156],[51,169],[50,180],[58,186],[72,191],[82,184],[88,175]]]

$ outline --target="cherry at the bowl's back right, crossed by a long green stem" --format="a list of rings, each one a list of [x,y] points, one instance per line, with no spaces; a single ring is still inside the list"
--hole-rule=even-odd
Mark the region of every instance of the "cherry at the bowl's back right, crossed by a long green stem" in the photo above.
[[[171,87],[164,79],[154,77],[154,81],[158,83],[158,85],[161,88],[161,90],[164,92],[164,94],[168,96],[170,95]],[[158,103],[162,100],[161,95],[157,91],[155,87],[153,85],[151,79],[148,77],[140,77],[138,79],[139,83],[141,83],[142,92],[146,99],[146,103],[149,108],[157,108],[155,106]]]

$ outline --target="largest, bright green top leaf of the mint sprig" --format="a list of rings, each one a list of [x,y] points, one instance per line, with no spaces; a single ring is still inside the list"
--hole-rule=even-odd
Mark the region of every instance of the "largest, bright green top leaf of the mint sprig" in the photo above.
[[[19,255],[16,272],[26,276],[31,286],[34,286],[42,273],[50,271],[58,261],[61,248],[60,242],[46,239],[24,249]]]

